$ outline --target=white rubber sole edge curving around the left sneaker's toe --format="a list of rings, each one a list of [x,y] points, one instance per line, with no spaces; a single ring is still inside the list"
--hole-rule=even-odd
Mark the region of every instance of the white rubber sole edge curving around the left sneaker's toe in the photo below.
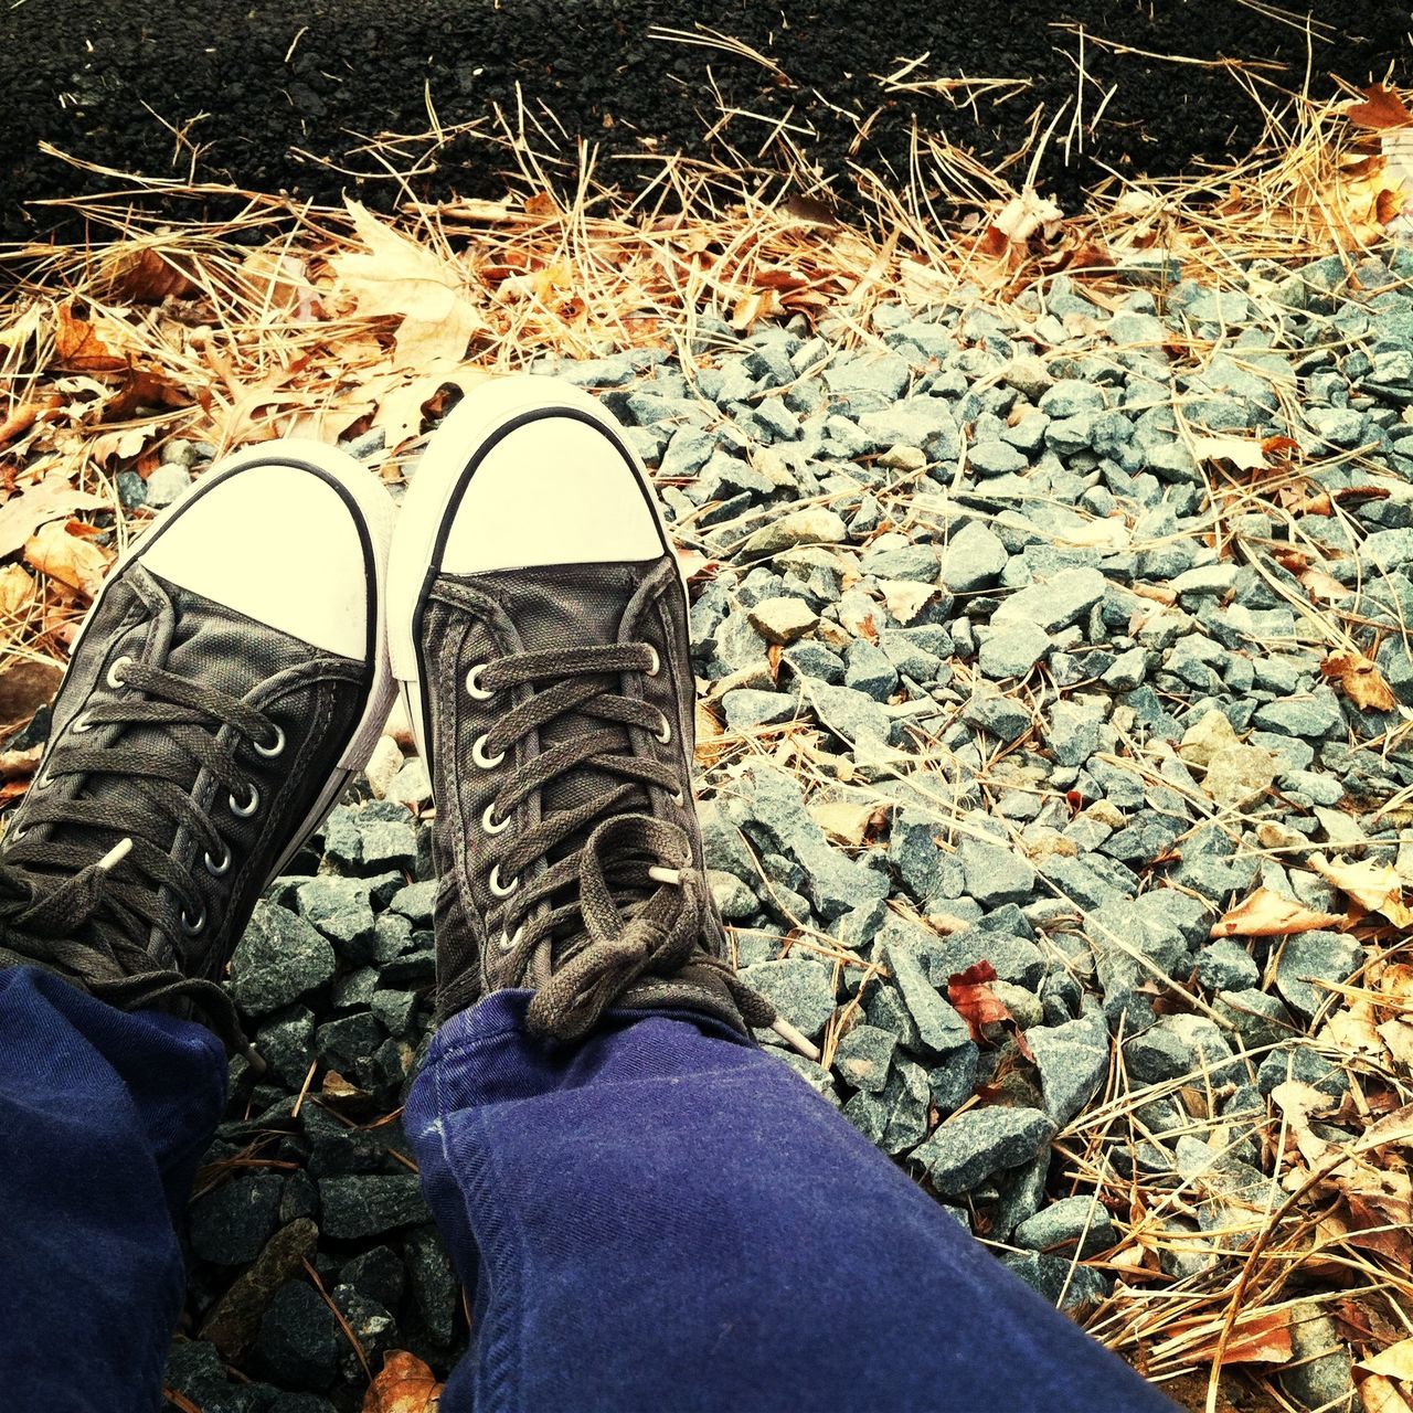
[[[270,869],[268,880],[277,877],[290,859],[300,852],[304,841],[328,818],[329,811],[338,803],[348,783],[367,764],[393,706],[393,697],[397,688],[387,654],[386,606],[387,560],[397,507],[393,504],[393,499],[382,482],[346,452],[302,438],[261,442],[257,447],[249,447],[244,451],[236,452],[223,461],[218,469],[202,476],[188,490],[184,490],[177,500],[157,516],[141,540],[119,557],[83,617],[83,623],[73,640],[73,647],[69,651],[69,660],[73,661],[78,658],[89,625],[96,617],[99,605],[103,602],[103,595],[109,586],[120,578],[124,568],[141,561],[143,555],[172,527],[184,509],[242,471],[250,466],[266,465],[295,466],[314,472],[338,492],[353,514],[363,545],[365,575],[367,577],[372,596],[367,656],[373,670],[363,715],[359,718],[359,723],[348,746],[339,756],[339,773],[331,776],[325,787],[319,791],[318,798],[300,824],[288,846]],[[64,690],[62,684],[59,690]]]

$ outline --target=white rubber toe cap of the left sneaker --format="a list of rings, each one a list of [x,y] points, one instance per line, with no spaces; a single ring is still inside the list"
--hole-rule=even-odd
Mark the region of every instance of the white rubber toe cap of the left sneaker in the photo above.
[[[240,458],[243,465],[199,486],[138,557],[170,584],[363,661],[377,612],[366,523],[355,519],[346,490],[298,465],[305,456],[287,455],[271,465],[250,465],[259,449]]]

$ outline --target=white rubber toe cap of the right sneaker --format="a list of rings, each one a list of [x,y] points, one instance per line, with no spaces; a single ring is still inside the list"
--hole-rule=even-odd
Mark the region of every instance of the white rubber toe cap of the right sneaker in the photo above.
[[[541,415],[476,468],[442,548],[444,574],[656,560],[657,517],[623,454],[592,422]]]

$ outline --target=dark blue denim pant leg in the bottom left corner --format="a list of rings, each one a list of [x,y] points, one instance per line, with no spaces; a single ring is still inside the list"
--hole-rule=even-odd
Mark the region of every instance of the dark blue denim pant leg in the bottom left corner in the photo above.
[[[153,1413],[175,1217],[225,1106],[220,1041],[0,971],[0,1405]]]

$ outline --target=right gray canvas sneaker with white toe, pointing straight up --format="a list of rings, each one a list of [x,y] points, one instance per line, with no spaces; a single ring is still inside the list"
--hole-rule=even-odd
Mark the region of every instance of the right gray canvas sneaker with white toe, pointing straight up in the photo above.
[[[475,389],[417,469],[389,605],[437,801],[438,1020],[528,988],[530,1027],[558,1040],[609,1007],[788,1033],[722,959],[687,596],[599,404],[544,377]]]

